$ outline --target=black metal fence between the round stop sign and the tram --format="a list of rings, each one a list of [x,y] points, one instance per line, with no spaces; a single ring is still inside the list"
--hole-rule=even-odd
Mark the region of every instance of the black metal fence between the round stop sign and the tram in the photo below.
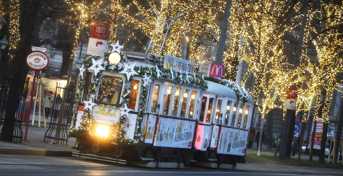
[[[56,140],[59,140],[59,144],[61,145],[68,144],[68,117],[72,109],[73,88],[74,85],[70,85],[68,88],[66,88],[62,87],[61,83],[56,83],[54,105],[50,109],[52,110],[52,113],[50,115],[50,125],[48,130],[45,132],[44,142],[50,143],[51,139],[54,139],[54,143],[56,142]],[[62,97],[64,95],[66,95],[66,103],[65,109],[63,111]],[[58,134],[57,131],[60,131],[59,138],[58,136],[56,136],[56,134]]]

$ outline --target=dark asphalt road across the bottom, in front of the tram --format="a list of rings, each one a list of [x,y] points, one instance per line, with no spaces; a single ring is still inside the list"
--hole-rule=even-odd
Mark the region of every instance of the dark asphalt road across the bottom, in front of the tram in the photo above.
[[[218,170],[197,166],[183,169],[144,168],[113,165],[78,157],[43,157],[31,155],[0,155],[1,176],[253,176],[253,175],[342,175],[342,168],[284,165],[275,163],[238,164],[236,170]]]

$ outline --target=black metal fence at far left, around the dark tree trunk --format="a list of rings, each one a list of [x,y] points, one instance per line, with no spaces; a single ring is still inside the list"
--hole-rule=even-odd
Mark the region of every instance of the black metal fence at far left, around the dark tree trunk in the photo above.
[[[26,122],[28,106],[28,83],[30,78],[5,75],[0,91],[0,140],[21,143],[22,122]]]

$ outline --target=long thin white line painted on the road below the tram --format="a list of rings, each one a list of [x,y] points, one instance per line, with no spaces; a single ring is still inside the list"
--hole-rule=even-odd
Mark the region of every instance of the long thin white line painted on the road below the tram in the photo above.
[[[161,174],[252,174],[252,175],[289,175],[289,176],[329,176],[329,175],[299,175],[299,174],[281,174],[281,173],[251,173],[251,172],[174,172],[174,171],[100,171],[100,170],[79,170],[85,172],[107,172],[107,173],[161,173]]]

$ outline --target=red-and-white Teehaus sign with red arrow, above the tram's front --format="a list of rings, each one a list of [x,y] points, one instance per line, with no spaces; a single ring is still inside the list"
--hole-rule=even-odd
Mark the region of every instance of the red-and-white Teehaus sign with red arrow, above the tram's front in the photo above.
[[[103,57],[107,49],[108,35],[109,24],[107,22],[93,20],[87,54]]]

